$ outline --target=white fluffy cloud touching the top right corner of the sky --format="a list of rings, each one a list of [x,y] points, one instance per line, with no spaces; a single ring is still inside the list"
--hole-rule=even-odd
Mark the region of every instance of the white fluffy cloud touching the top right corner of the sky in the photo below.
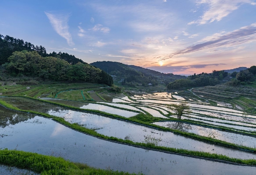
[[[201,19],[191,21],[188,25],[220,21],[222,18],[228,16],[232,11],[238,9],[241,4],[256,4],[252,0],[197,0],[196,3],[198,6],[207,4],[209,9],[204,12]]]

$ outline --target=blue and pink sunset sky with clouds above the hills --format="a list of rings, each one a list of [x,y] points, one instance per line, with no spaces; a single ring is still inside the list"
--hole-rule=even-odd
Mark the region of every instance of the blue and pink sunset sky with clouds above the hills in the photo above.
[[[256,65],[256,0],[2,0],[0,34],[87,63],[210,73]]]

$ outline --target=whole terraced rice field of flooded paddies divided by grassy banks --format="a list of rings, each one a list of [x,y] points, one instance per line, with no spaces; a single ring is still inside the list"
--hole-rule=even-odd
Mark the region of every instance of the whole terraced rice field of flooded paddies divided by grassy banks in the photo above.
[[[180,166],[184,167],[181,174],[253,174],[256,171],[255,166],[225,164],[216,159],[205,160],[203,156],[189,155],[192,155],[191,151],[199,151],[198,155],[205,152],[256,162],[256,115],[248,110],[245,113],[237,107],[240,104],[234,102],[238,100],[236,98],[241,101],[246,98],[244,103],[253,106],[253,97],[241,96],[239,91],[227,93],[233,100],[228,98],[223,102],[220,98],[209,98],[211,87],[206,87],[207,91],[193,89],[194,94],[180,91],[134,96],[108,93],[93,84],[90,88],[85,84],[76,89],[74,87],[59,85],[58,91],[56,87],[45,86],[2,90],[5,92],[0,101],[31,112],[10,111],[1,107],[0,147],[61,156],[98,168],[110,167],[144,174],[177,174],[181,172]],[[51,93],[52,90],[54,93]],[[97,92],[93,96],[97,95],[98,102],[96,98],[90,99],[92,92]],[[224,92],[219,94],[225,96]],[[72,100],[68,99],[71,97]],[[177,120],[168,105],[180,102],[187,102],[191,113],[185,113],[181,120]],[[68,123],[61,125],[64,121],[58,123],[32,114],[33,111],[49,114],[54,120],[57,120],[54,117],[59,117],[71,128],[75,124],[99,135],[86,135],[67,127]],[[148,149],[153,148],[152,145],[154,149]],[[172,151],[161,152],[163,148],[184,149],[191,153],[175,155]]]

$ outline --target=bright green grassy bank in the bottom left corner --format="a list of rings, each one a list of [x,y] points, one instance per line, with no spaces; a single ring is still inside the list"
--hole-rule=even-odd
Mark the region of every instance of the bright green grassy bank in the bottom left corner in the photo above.
[[[61,157],[40,155],[37,153],[0,150],[0,164],[14,166],[20,169],[27,169],[42,175],[129,175],[127,172],[102,170],[92,168],[86,164],[73,163]],[[135,174],[135,173],[133,173]]]

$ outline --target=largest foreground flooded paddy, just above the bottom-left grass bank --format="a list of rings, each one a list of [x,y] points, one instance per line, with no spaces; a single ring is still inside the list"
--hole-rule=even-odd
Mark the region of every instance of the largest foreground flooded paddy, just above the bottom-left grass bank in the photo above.
[[[36,122],[35,122],[36,121]],[[255,174],[256,167],[237,166],[108,142],[36,116],[0,128],[0,147],[60,156],[97,168],[144,174]],[[206,168],[207,167],[207,168]]]

